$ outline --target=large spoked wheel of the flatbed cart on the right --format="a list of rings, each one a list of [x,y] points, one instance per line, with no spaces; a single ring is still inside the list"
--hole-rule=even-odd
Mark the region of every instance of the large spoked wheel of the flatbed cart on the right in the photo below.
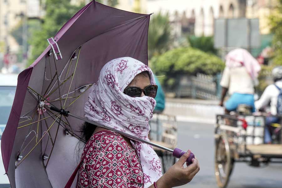
[[[228,184],[230,174],[233,169],[230,147],[225,134],[220,135],[216,141],[215,149],[215,175],[217,185],[225,188]]]

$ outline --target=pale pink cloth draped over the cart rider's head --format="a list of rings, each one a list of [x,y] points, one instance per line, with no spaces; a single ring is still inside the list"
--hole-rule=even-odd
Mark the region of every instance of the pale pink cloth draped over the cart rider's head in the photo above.
[[[245,66],[253,81],[257,80],[261,69],[259,62],[245,49],[231,50],[225,57],[226,66],[229,68]]]

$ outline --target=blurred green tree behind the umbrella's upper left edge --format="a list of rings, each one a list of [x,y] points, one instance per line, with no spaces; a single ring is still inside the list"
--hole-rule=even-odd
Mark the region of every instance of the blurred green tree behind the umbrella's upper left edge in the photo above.
[[[45,50],[48,46],[46,39],[54,37],[60,28],[83,7],[72,5],[69,0],[46,0],[45,18],[42,20],[41,29],[34,32],[32,37],[32,55],[29,57],[29,65]]]

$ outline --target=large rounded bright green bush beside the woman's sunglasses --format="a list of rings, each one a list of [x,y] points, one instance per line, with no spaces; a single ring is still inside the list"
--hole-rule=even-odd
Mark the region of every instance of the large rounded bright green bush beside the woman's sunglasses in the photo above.
[[[165,87],[176,84],[178,77],[184,74],[204,73],[215,75],[224,69],[224,62],[216,55],[186,47],[169,50],[151,59],[151,67],[159,81]]]

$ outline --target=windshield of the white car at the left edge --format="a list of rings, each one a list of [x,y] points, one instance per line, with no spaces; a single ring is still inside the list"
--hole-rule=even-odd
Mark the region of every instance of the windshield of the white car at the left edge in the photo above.
[[[0,138],[11,112],[16,86],[0,86]]]

